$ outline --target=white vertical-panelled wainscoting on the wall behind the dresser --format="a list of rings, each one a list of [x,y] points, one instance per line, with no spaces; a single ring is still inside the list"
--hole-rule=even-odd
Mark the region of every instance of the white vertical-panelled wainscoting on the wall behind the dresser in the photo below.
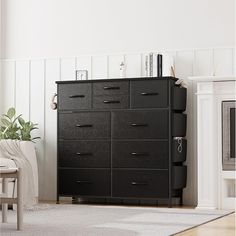
[[[187,80],[189,76],[233,75],[234,48],[210,48],[166,51],[174,57],[176,77],[188,85],[188,180],[184,190],[184,203],[196,205],[197,160],[196,160],[196,111],[193,103],[196,86]],[[89,79],[119,78],[119,64],[126,63],[126,77],[145,76],[144,59],[147,52],[135,54],[85,55],[72,58],[42,58],[25,60],[2,60],[2,111],[16,107],[39,124],[35,132],[39,164],[39,197],[56,199],[56,111],[50,109],[51,96],[56,93],[55,81],[74,80],[76,69],[88,70]]]

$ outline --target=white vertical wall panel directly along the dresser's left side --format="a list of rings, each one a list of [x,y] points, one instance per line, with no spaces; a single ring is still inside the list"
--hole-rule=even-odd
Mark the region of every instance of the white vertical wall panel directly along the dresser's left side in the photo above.
[[[55,200],[57,191],[57,111],[51,110],[50,103],[57,93],[55,81],[60,80],[60,60],[45,61],[45,163],[43,199]],[[50,181],[49,181],[50,180]]]

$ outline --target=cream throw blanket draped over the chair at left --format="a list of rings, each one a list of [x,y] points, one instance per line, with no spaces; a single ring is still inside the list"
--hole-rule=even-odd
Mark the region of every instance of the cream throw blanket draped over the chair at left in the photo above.
[[[33,172],[29,160],[21,151],[20,141],[10,139],[0,140],[0,157],[15,161],[16,166],[21,168],[23,204],[25,208],[32,207],[36,204]]]

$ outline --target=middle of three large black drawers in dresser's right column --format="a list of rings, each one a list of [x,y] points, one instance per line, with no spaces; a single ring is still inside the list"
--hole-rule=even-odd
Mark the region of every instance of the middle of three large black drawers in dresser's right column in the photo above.
[[[113,168],[168,169],[168,142],[113,141]]]

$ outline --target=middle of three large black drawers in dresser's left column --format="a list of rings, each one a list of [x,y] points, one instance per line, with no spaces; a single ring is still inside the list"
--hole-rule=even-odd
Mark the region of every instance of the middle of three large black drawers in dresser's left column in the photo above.
[[[60,141],[59,167],[110,167],[109,141]]]

